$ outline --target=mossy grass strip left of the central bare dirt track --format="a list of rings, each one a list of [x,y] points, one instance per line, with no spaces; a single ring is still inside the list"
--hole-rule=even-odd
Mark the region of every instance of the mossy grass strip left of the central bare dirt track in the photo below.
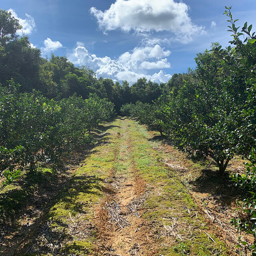
[[[94,148],[92,154],[80,164],[66,188],[62,190],[58,200],[50,208],[48,218],[52,222],[52,227],[59,226],[58,229],[61,229],[62,232],[64,228],[68,234],[69,230],[65,227],[72,224],[72,220],[78,219],[81,214],[83,215],[82,222],[92,222],[94,208],[106,191],[104,180],[115,168],[118,168],[116,166],[116,152],[119,150],[117,129],[115,123],[112,123],[112,128],[108,130],[110,133],[107,137],[109,143]],[[90,232],[91,234],[85,240],[76,238],[72,244],[64,240],[60,251],[75,255],[90,254],[94,248],[93,242],[97,238],[96,230],[90,230]]]

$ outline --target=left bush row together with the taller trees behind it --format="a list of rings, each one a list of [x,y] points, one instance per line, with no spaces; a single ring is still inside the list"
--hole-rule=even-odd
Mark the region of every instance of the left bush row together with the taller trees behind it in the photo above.
[[[11,12],[0,10],[0,178],[60,167],[63,156],[92,142],[91,131],[127,102],[151,102],[161,87],[145,78],[129,86],[96,78],[64,56],[42,58]]]

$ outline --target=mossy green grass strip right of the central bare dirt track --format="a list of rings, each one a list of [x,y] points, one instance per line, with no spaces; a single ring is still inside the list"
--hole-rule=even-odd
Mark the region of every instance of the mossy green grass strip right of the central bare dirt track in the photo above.
[[[148,183],[148,187],[154,187],[154,193],[146,201],[147,206],[152,209],[144,214],[144,218],[149,222],[157,223],[154,228],[158,230],[158,234],[164,232],[158,228],[160,223],[172,226],[174,218],[178,218],[180,234],[188,233],[188,228],[191,228],[190,240],[182,243],[180,240],[175,240],[172,246],[162,246],[159,253],[165,256],[188,254],[210,256],[216,252],[216,255],[227,256],[228,250],[225,244],[209,230],[204,217],[200,213],[198,213],[198,218],[189,216],[187,209],[193,209],[194,212],[197,206],[191,196],[184,192],[185,188],[180,183],[177,174],[170,173],[170,170],[160,161],[162,156],[153,148],[157,143],[147,139],[149,134],[143,126],[131,120],[126,120],[126,122],[130,128],[132,158],[136,162],[138,171]],[[216,243],[208,240],[205,231]],[[161,242],[166,240],[166,237],[160,235],[158,239]],[[222,248],[221,253],[220,248]]]

